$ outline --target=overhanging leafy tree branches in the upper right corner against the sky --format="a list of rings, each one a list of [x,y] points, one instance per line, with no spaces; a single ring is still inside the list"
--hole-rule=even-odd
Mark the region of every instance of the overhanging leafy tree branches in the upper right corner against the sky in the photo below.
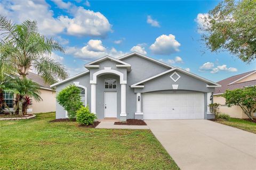
[[[255,0],[222,1],[203,20],[202,40],[212,52],[227,50],[243,62],[255,60]]]

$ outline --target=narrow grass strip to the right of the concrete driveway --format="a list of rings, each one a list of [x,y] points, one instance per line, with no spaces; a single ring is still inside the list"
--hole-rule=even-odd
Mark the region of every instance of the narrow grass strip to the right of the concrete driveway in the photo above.
[[[239,118],[230,118],[229,121],[218,120],[215,122],[222,123],[228,126],[233,126],[235,128],[242,129],[248,132],[256,133],[256,123],[251,121],[247,121]]]

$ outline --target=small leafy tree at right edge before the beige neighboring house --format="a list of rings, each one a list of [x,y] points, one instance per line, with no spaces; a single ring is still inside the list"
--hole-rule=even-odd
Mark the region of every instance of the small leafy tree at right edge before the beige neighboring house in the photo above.
[[[226,90],[222,97],[226,99],[228,107],[240,106],[243,112],[253,120],[252,113],[256,112],[256,86]]]

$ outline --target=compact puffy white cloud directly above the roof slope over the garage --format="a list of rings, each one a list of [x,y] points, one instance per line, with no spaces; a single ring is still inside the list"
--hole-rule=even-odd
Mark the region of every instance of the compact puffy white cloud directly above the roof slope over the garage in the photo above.
[[[170,34],[162,35],[156,38],[154,44],[149,48],[154,54],[167,55],[175,52],[179,52],[180,43],[175,39],[175,36]]]

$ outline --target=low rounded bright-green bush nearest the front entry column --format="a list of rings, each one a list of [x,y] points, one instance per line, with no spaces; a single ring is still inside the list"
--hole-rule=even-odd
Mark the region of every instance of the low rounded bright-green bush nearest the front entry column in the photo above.
[[[88,106],[82,106],[76,112],[76,121],[80,124],[90,125],[94,123],[95,119],[97,119],[97,116],[90,112]]]

